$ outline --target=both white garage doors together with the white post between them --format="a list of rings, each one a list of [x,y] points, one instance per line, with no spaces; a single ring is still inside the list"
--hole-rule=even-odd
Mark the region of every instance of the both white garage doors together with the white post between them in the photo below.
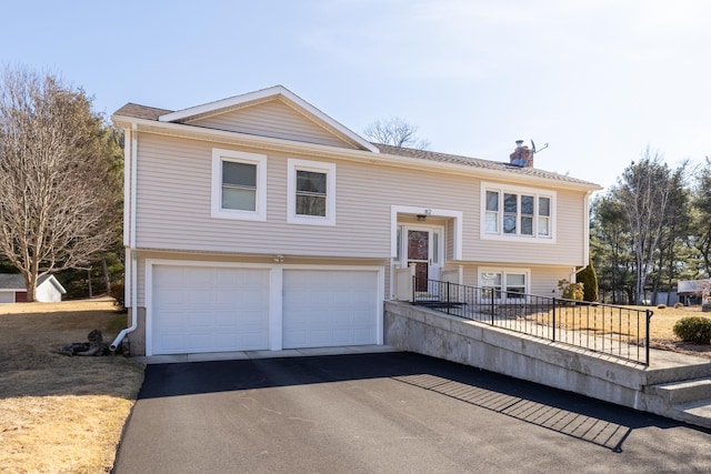
[[[382,343],[378,268],[148,265],[147,353]]]

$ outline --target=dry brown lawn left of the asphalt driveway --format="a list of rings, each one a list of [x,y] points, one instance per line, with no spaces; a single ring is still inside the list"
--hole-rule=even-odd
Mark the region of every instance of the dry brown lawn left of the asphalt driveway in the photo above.
[[[54,351],[126,323],[108,299],[0,304],[0,472],[111,471],[144,366]]]

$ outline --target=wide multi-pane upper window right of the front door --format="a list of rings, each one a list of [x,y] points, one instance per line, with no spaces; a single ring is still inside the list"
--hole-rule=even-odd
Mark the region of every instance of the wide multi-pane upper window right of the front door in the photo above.
[[[554,191],[482,183],[481,238],[552,241]]]

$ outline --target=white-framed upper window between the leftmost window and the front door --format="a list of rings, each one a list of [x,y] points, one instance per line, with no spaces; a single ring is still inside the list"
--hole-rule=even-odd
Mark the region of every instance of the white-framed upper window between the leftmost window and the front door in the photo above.
[[[289,159],[287,222],[336,225],[336,164]]]

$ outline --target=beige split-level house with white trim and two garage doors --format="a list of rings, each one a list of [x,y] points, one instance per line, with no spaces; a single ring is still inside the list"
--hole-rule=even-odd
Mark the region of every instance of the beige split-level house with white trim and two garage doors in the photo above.
[[[129,103],[133,354],[382,344],[399,269],[550,295],[588,263],[598,185],[373,144],[283,87],[179,111]]]

